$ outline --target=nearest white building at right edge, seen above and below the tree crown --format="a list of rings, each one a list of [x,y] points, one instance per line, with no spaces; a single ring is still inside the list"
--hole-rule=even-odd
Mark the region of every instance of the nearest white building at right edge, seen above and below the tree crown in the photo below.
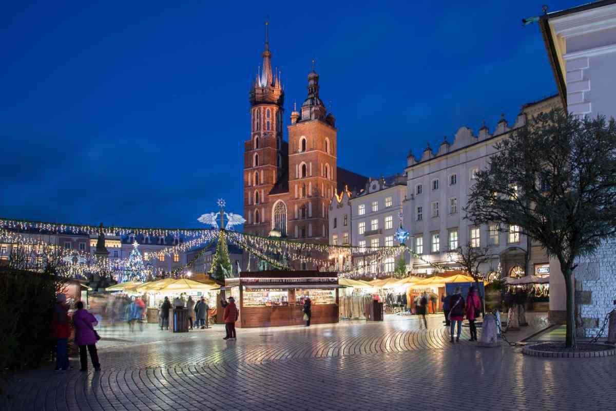
[[[597,1],[540,19],[559,95],[569,113],[616,118],[616,4]],[[576,329],[594,336],[616,300],[616,239],[604,241],[575,269]],[[550,261],[550,316],[564,320],[565,283]],[[607,330],[605,331],[607,333]]]

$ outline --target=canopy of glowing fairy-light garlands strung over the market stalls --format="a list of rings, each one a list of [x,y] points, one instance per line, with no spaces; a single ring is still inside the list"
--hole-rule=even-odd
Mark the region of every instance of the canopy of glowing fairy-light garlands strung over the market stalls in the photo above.
[[[341,255],[353,256],[354,266],[338,271],[340,277],[361,277],[372,267],[380,266],[386,259],[396,258],[403,252],[408,252],[413,258],[435,267],[439,271],[445,271],[447,266],[429,261],[421,254],[415,253],[411,248],[403,243],[396,246],[352,246],[352,245],[330,245],[322,243],[301,242],[298,240],[288,240],[277,237],[261,237],[254,234],[235,232],[222,229],[180,229],[180,228],[147,228],[147,227],[121,227],[121,226],[90,226],[83,224],[59,224],[52,222],[26,221],[18,219],[0,219],[0,243],[13,244],[21,247],[22,253],[32,253],[37,262],[51,261],[59,259],[58,271],[64,275],[72,277],[87,277],[91,274],[102,274],[108,272],[131,271],[131,266],[127,259],[95,259],[89,251],[84,250],[65,250],[59,244],[52,241],[45,241],[44,235],[54,234],[88,234],[99,235],[144,235],[152,237],[174,236],[178,238],[190,238],[187,241],[180,241],[176,245],[168,246],[161,250],[148,251],[145,261],[161,258],[179,253],[187,253],[191,250],[199,250],[190,261],[180,267],[168,271],[166,274],[171,276],[182,275],[188,267],[197,261],[208,249],[209,246],[217,241],[217,248],[224,246],[227,241],[238,246],[241,250],[252,254],[257,259],[267,262],[270,266],[282,270],[292,270],[286,261],[310,262],[317,267],[331,269],[332,261]],[[34,237],[33,237],[34,235]],[[36,237],[38,236],[38,238]],[[217,254],[211,264],[212,269],[216,267]],[[282,259],[282,261],[280,261]],[[352,261],[351,260],[351,261]],[[42,264],[41,264],[42,265]],[[134,267],[132,267],[134,268]],[[134,271],[140,271],[136,269]],[[156,272],[151,265],[147,267],[147,277],[160,274],[161,268],[157,267]],[[119,277],[119,275],[116,275]],[[131,279],[145,280],[146,274],[135,276]],[[127,280],[124,277],[122,280]]]

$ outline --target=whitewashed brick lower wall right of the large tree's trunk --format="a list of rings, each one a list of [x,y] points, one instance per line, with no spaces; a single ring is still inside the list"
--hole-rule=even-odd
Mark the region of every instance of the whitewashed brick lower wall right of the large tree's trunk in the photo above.
[[[604,242],[592,256],[580,258],[575,269],[578,336],[594,337],[616,299],[616,238]],[[607,328],[602,336],[607,336]]]

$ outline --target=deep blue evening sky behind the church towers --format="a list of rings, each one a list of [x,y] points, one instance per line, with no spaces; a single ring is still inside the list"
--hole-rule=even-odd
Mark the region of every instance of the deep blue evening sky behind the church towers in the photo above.
[[[267,14],[285,124],[314,58],[338,165],[367,176],[556,92],[538,26],[521,25],[540,1],[336,3],[7,2],[0,216],[199,227],[219,197],[241,213]]]

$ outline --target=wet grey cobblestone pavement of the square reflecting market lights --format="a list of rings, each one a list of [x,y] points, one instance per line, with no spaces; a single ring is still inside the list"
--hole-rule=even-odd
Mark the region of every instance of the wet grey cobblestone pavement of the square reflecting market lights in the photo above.
[[[545,315],[529,320],[510,338],[546,325]],[[427,330],[411,317],[238,329],[235,341],[223,335],[219,326],[176,335],[148,328],[132,340],[116,335],[124,341],[100,349],[101,372],[18,373],[0,409],[614,409],[615,359],[546,360],[505,344],[480,349],[466,341],[468,328],[464,341],[451,344],[440,316]]]

